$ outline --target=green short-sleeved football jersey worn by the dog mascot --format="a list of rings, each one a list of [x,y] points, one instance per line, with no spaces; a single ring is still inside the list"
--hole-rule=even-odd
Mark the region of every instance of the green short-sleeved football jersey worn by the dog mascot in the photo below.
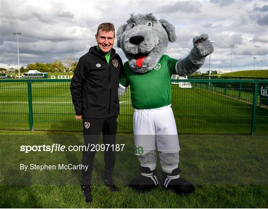
[[[171,103],[170,79],[172,74],[177,74],[177,62],[177,59],[164,54],[155,67],[146,73],[134,73],[129,62],[125,62],[120,84],[124,87],[130,85],[135,109],[153,109]]]

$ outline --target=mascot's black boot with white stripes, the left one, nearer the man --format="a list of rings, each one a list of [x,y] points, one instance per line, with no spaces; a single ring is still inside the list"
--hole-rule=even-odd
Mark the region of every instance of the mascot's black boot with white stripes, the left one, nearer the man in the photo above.
[[[158,185],[156,169],[140,167],[140,176],[130,182],[130,187],[139,192],[149,192]]]

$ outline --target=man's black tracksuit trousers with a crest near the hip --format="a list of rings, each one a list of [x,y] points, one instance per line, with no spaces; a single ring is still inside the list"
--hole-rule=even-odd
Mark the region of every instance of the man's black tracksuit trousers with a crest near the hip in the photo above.
[[[109,118],[83,118],[84,143],[89,150],[83,151],[82,164],[88,165],[87,170],[82,170],[82,185],[91,185],[91,176],[93,170],[93,159],[96,154],[96,145],[99,143],[100,134],[103,136],[105,147],[105,180],[111,181],[115,166],[115,141],[117,132],[117,116]],[[113,146],[111,146],[113,145]],[[93,149],[94,148],[94,149]],[[99,151],[101,152],[101,151]]]

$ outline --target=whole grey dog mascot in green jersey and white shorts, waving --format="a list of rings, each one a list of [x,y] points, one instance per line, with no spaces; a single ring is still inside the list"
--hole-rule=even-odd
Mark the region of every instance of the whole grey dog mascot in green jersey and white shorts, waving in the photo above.
[[[189,75],[198,70],[213,52],[207,34],[193,39],[194,47],[183,59],[163,54],[168,42],[175,42],[175,27],[150,14],[131,14],[117,32],[117,45],[128,61],[120,78],[119,95],[130,85],[134,107],[135,155],[140,161],[140,176],[130,187],[150,191],[158,185],[156,146],[162,166],[162,184],[178,194],[195,190],[180,177],[179,139],[171,109],[171,75]]]

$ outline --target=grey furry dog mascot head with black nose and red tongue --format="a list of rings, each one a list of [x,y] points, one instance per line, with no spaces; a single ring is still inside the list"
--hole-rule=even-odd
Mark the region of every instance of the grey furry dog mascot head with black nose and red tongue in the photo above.
[[[127,24],[117,31],[117,46],[129,60],[131,69],[145,73],[153,69],[163,55],[168,42],[176,41],[175,27],[152,13],[131,14]]]

